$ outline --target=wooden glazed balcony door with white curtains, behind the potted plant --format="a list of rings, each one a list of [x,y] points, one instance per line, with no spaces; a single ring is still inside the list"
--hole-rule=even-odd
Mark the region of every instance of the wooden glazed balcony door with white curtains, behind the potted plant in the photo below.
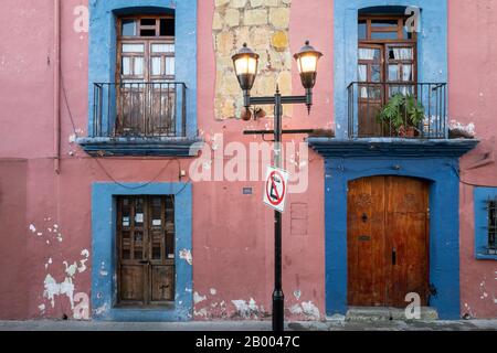
[[[404,15],[360,15],[358,23],[359,136],[391,133],[377,119],[395,94],[416,95],[416,33],[405,31]]]

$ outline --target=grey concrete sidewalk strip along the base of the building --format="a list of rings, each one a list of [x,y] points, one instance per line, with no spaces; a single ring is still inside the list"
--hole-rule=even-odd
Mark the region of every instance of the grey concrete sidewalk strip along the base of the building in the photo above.
[[[290,322],[288,331],[497,331],[497,320]],[[271,321],[0,321],[0,331],[271,331]]]

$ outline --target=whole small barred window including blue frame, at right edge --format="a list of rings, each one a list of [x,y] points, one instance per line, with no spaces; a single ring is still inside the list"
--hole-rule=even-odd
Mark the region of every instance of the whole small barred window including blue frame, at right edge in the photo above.
[[[497,188],[475,188],[475,257],[497,260]]]

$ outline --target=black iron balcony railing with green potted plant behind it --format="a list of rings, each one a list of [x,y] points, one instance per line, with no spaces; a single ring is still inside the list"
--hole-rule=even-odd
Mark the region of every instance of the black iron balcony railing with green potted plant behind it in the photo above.
[[[348,137],[446,139],[446,96],[445,83],[353,82]]]

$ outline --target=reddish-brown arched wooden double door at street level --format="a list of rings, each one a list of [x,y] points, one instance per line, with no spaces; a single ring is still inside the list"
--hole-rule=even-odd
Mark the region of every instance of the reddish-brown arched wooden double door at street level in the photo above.
[[[405,308],[429,296],[429,185],[373,176],[349,183],[348,303]]]

